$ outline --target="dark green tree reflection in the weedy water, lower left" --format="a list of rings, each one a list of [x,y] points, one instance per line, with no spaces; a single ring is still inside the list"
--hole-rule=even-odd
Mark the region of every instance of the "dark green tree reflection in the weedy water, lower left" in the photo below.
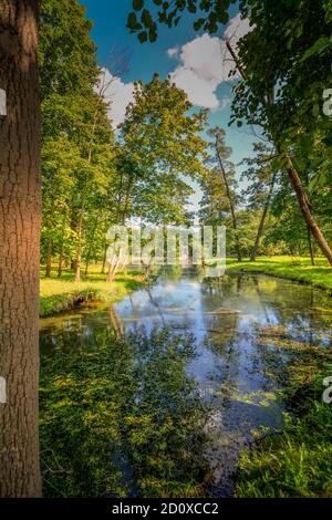
[[[123,335],[110,318],[116,331],[79,321],[41,335],[44,493],[207,496],[207,410],[186,373],[193,337]]]

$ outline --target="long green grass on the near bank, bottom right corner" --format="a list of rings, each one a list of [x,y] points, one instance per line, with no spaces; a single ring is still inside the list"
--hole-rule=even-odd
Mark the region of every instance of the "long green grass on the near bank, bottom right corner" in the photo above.
[[[299,384],[288,397],[281,435],[271,435],[242,454],[237,475],[241,498],[332,497],[332,404],[322,402],[324,376]]]

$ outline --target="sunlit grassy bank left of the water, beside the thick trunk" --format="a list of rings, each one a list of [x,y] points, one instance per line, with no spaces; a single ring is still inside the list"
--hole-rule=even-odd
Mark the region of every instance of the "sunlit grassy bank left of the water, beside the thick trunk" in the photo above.
[[[100,268],[82,277],[81,283],[74,282],[74,274],[64,271],[62,277],[45,278],[40,281],[40,316],[49,316],[72,309],[84,301],[100,300],[115,302],[144,284],[142,272],[118,272],[114,282],[105,282]]]

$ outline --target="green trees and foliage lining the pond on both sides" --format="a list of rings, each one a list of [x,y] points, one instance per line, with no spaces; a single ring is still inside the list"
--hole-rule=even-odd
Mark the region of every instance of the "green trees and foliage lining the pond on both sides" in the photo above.
[[[300,12],[270,7],[284,20],[274,28],[256,13],[255,2],[249,4],[262,30],[245,37],[235,56],[235,70],[248,72],[234,82],[231,123],[259,129],[239,183],[227,128],[209,128],[207,112],[193,111],[169,80],[155,75],[147,84],[137,82],[135,102],[114,131],[106,95],[112,77],[97,66],[85,9],[76,0],[61,6],[43,0],[41,262],[46,277],[70,268],[80,281],[81,271],[86,274],[97,262],[112,281],[105,266],[108,227],[132,219],[189,226],[197,217],[188,206],[193,180],[204,194],[200,223],[227,226],[228,256],[239,261],[310,256],[314,263],[314,256],[324,253],[331,260],[331,124],[322,112],[331,79],[331,8],[323,1],[302,2]],[[148,27],[153,20],[146,17]],[[313,17],[321,23],[312,24]],[[136,14],[135,20],[136,25],[132,13],[128,25],[136,31]],[[126,52],[113,51],[108,66],[113,75],[129,66]]]

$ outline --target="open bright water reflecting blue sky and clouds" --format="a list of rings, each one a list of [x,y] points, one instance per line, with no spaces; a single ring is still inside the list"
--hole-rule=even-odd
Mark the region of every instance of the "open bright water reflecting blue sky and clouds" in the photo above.
[[[191,272],[163,273],[155,285],[108,309],[84,308],[43,320],[42,349],[82,349],[110,324],[118,335],[165,325],[193,334],[196,355],[183,367],[197,382],[200,403],[209,406],[205,458],[212,470],[210,490],[229,496],[239,449],[260,435],[261,426],[282,426],[280,389],[299,371],[318,370],[330,356],[330,305],[322,291],[263,275],[203,280]],[[157,393],[159,379],[152,374],[151,381]]]

